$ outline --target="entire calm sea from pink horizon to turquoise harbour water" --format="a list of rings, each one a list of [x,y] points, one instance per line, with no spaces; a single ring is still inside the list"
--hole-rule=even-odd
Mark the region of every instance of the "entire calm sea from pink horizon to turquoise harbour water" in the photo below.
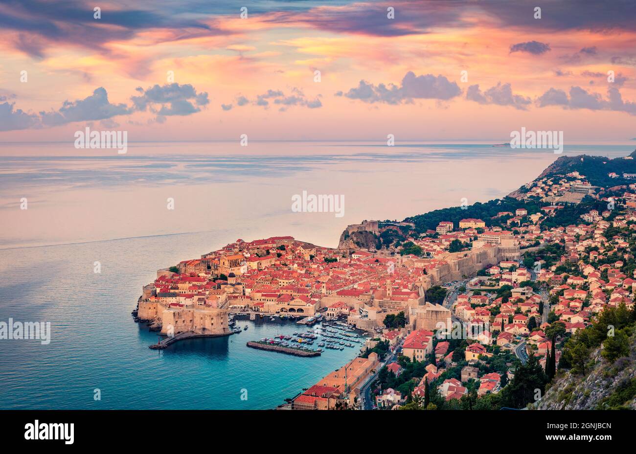
[[[237,238],[293,235],[335,246],[347,224],[502,196],[557,157],[486,144],[237,148],[137,144],[121,157],[59,144],[0,146],[0,321],[52,326],[48,345],[0,340],[0,408],[274,408],[357,349],[317,358],[252,350],[246,341],[301,327],[257,320],[228,338],[150,350],[156,335],[130,311],[158,268]],[[570,146],[565,154],[632,150]],[[345,216],[291,212],[291,196],[303,190],[345,195]]]

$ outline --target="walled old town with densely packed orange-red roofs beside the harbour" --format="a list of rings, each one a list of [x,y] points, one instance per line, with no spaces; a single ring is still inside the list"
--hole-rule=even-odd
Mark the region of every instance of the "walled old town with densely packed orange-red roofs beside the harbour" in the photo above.
[[[237,240],[219,251],[159,270],[144,287],[138,314],[162,333],[219,333],[230,312],[277,317],[347,317],[371,331],[404,312],[413,329],[432,329],[450,312],[424,301],[431,263],[298,242],[292,237]]]

